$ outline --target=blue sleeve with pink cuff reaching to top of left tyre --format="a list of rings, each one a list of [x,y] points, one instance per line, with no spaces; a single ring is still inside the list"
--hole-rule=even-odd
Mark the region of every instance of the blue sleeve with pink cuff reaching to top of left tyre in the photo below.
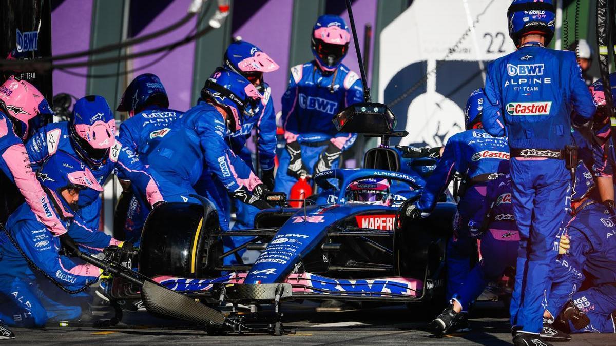
[[[139,155],[129,147],[130,145],[124,145],[121,140],[116,139],[115,145],[111,148],[110,156],[111,160],[116,162],[116,171],[120,172],[122,177],[131,180],[137,190],[146,196],[148,204],[153,205],[163,201],[158,182],[139,160]]]

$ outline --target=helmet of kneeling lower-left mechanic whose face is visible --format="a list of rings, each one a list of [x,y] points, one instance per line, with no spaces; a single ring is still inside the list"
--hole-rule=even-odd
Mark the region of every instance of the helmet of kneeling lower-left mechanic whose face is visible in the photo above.
[[[54,204],[55,211],[63,219],[73,217],[76,212],[76,206],[62,197],[63,190],[67,188],[77,192],[85,188],[95,191],[103,190],[92,172],[81,161],[62,150],[49,156],[43,162],[36,172],[36,178],[49,196],[49,201]],[[49,207],[43,206],[43,209],[51,212]]]

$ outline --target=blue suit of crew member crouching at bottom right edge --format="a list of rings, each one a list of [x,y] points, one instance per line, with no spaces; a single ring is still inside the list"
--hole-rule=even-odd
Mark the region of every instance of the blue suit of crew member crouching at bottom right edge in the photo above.
[[[573,332],[616,332],[616,217],[603,204],[587,199],[567,225],[571,248],[558,255],[545,310],[558,316],[569,300],[590,318],[590,324]],[[584,281],[591,288],[579,291]]]

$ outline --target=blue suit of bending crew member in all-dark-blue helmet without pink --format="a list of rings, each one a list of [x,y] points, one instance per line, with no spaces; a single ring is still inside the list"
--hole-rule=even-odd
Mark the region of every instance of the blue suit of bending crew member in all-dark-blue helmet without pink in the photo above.
[[[176,119],[181,118],[184,112],[150,106],[137,113],[120,124],[118,140],[124,143],[130,150],[139,154],[139,159],[144,165],[148,165],[148,155],[158,142],[171,131],[171,124]],[[163,199],[167,202],[187,202],[198,203],[197,200],[190,198],[187,191],[182,190],[175,184],[168,182],[161,177],[152,167],[148,167],[150,174],[153,175]],[[129,180],[124,171],[117,173],[118,179]],[[126,240],[132,241],[135,246],[139,246],[141,230],[145,219],[150,213],[149,204],[145,196],[140,193],[138,188],[131,185],[132,197],[129,202],[129,209],[124,223]],[[182,198],[184,196],[184,198]]]

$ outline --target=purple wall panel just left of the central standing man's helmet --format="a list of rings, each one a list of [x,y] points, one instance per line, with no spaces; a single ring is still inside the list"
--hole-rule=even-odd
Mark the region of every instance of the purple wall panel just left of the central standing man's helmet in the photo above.
[[[280,98],[288,82],[292,13],[293,1],[270,0],[233,33],[233,37],[241,36],[261,48],[280,65],[277,71],[264,76],[272,87],[276,112],[280,111]]]

